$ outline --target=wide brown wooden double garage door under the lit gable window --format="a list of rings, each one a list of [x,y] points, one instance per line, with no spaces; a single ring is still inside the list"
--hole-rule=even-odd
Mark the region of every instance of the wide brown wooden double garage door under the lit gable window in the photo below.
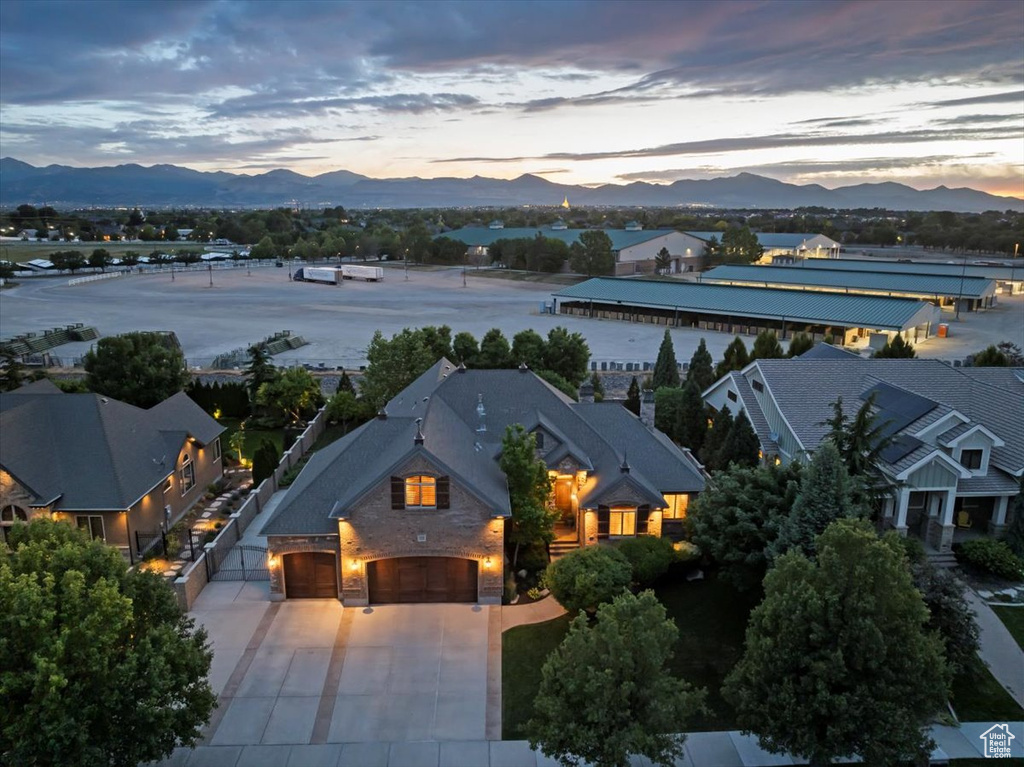
[[[476,562],[454,557],[380,559],[367,566],[370,601],[475,602]]]

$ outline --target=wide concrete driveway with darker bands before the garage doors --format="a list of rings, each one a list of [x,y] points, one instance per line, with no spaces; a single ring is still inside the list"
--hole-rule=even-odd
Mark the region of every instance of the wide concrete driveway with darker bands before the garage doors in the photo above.
[[[501,737],[499,607],[343,608],[267,601],[266,584],[212,583],[194,616],[214,646],[213,747]]]

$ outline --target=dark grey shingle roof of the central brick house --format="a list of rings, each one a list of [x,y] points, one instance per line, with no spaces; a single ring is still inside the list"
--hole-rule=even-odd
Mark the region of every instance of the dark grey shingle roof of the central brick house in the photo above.
[[[441,359],[391,399],[385,412],[386,418],[370,421],[310,459],[263,535],[335,532],[331,509],[344,513],[357,507],[389,472],[417,456],[508,514],[508,486],[497,457],[512,424],[541,424],[574,455],[583,454],[598,482],[581,498],[582,505],[596,505],[620,481],[626,454],[634,467],[631,482],[648,496],[703,488],[692,460],[620,404],[578,404],[528,371],[457,370]],[[422,419],[422,445],[414,444],[417,419]]]

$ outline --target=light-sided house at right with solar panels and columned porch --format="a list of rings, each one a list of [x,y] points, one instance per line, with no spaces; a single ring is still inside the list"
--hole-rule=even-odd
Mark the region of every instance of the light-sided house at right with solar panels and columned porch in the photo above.
[[[884,522],[938,551],[1004,531],[1024,475],[1024,370],[812,352],[754,361],[705,401],[744,411],[764,459],[788,463],[806,462],[827,437],[838,397],[853,418],[873,394],[877,423],[895,437],[882,454],[893,485]]]

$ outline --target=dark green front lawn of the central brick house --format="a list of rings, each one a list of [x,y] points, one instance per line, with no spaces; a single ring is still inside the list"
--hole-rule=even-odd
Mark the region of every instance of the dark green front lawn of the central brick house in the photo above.
[[[679,628],[672,672],[708,689],[705,714],[686,722],[694,731],[735,729],[734,713],[721,695],[722,681],[743,651],[751,609],[760,598],[738,593],[714,577],[687,583],[670,579],[655,593]],[[568,631],[567,615],[520,626],[502,636],[502,737],[523,737],[541,684],[541,667]]]

